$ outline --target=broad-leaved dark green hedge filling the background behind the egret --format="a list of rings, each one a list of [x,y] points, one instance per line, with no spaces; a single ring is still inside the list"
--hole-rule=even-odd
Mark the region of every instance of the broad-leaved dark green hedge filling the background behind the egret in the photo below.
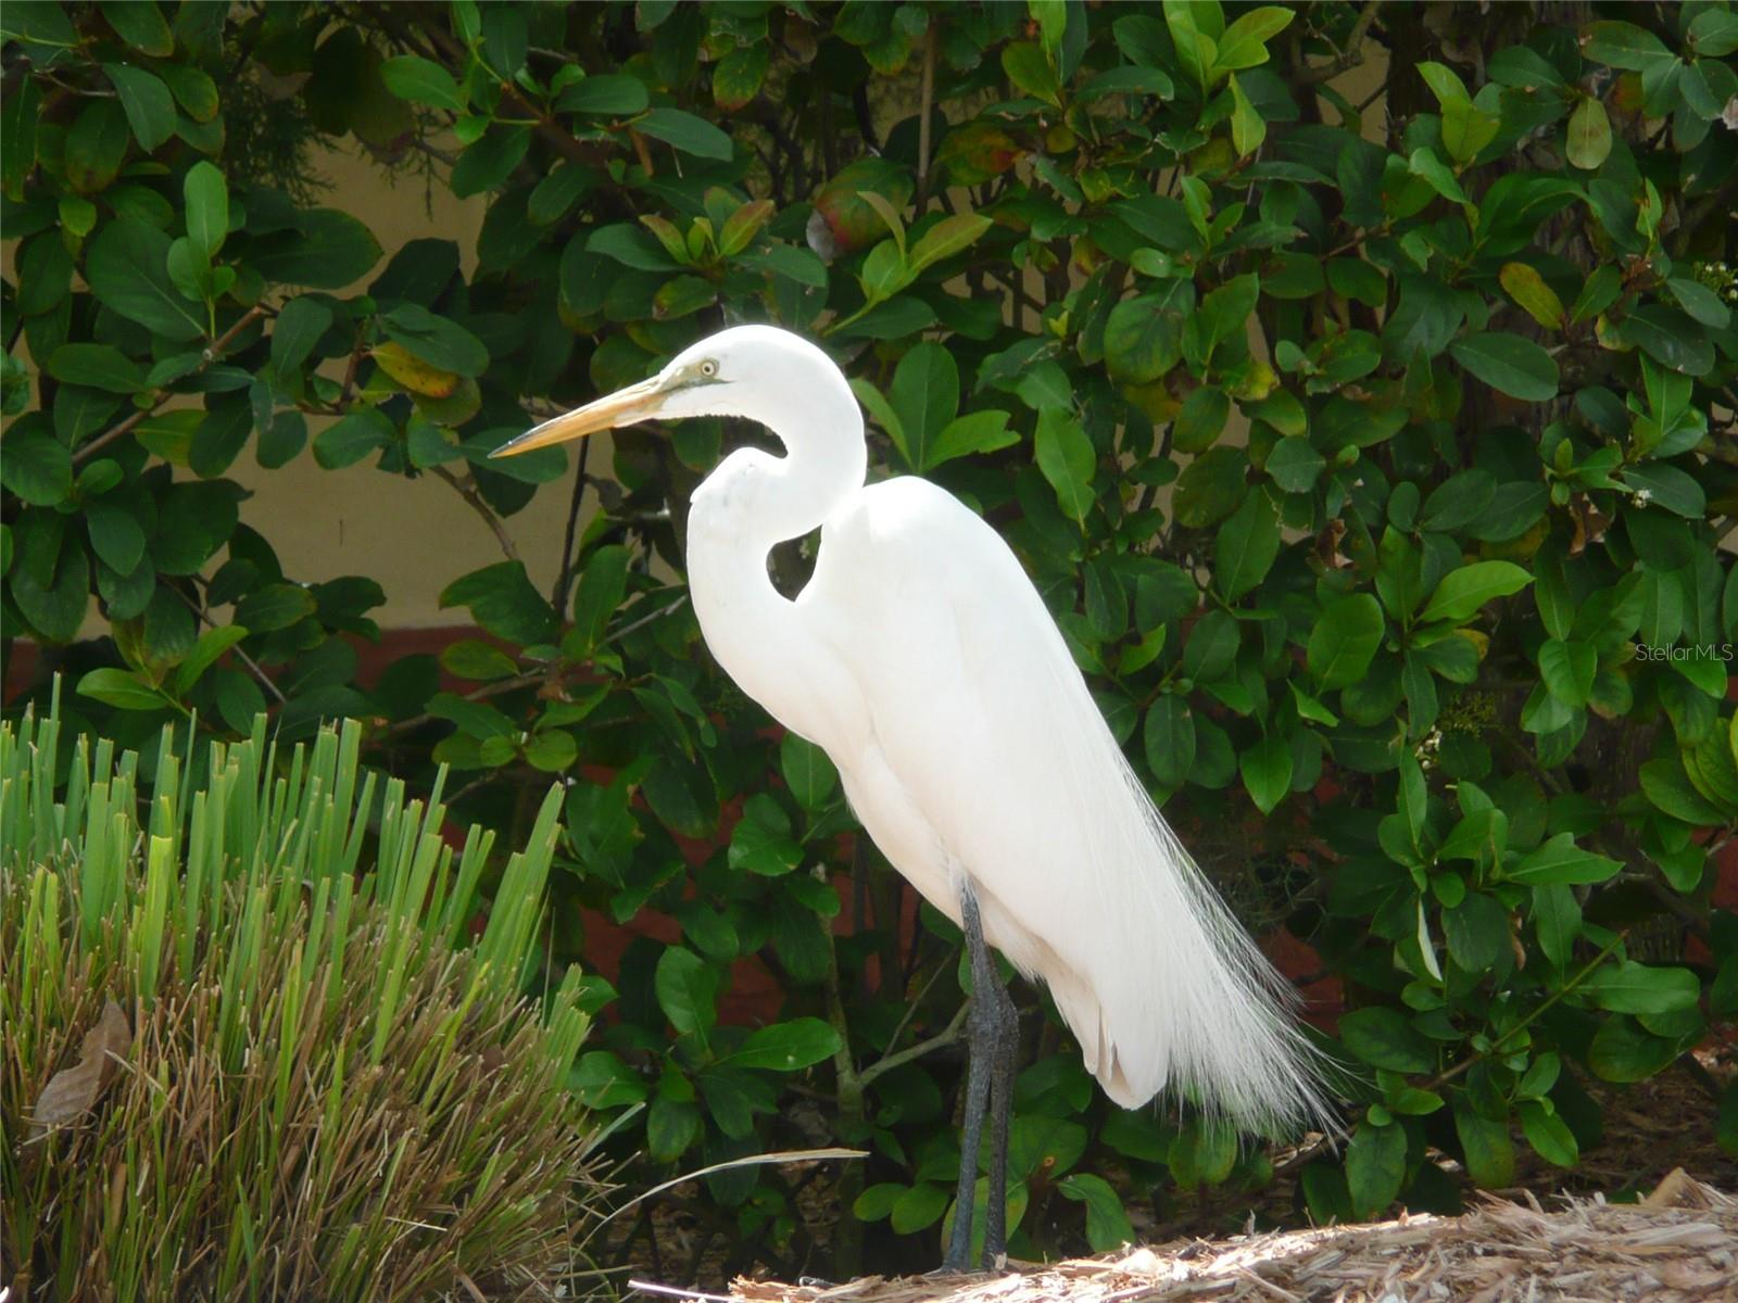
[[[360,690],[332,634],[370,632],[377,589],[294,584],[222,474],[316,422],[323,466],[506,516],[567,467],[485,460],[528,401],[735,316],[824,339],[876,474],[998,525],[1184,841],[1342,980],[1368,1089],[1304,1176],[1316,1216],[1453,1202],[1432,1150],[1484,1185],[1517,1138],[1573,1166],[1590,1081],[1738,1008],[1707,857],[1738,823],[1726,5],[10,9],[7,625],[70,638],[94,591],[113,664],[80,688],[122,733],[247,728],[257,665],[285,728],[382,719],[408,775],[419,747],[474,771],[480,817],[608,770],[567,794],[554,952],[579,905],[681,926],[629,949],[580,1060],[596,1108],[645,1105],[624,1152],[784,1148],[822,1093],[876,1150],[836,1272],[866,1220],[933,1235],[959,1161],[951,931],[905,936],[831,766],[718,676],[667,579],[737,431],[622,433],[608,485],[580,462],[575,519],[603,511],[553,592],[511,554],[455,575],[447,603],[511,648],[450,648],[466,693],[429,658]],[[1333,76],[1376,56],[1352,103]],[[243,155],[264,85],[299,90]],[[487,195],[476,250],[375,268],[360,222],[295,198],[297,142],[346,132]],[[777,572],[799,584],[799,549]],[[754,1037],[796,1053],[718,1025],[742,961],[787,995]],[[1109,1108],[1053,1027],[1017,1105],[1017,1253],[1114,1242],[1118,1190],[1231,1209],[1264,1181],[1187,1115]],[[812,1256],[780,1173],[706,1197],[732,1265]]]

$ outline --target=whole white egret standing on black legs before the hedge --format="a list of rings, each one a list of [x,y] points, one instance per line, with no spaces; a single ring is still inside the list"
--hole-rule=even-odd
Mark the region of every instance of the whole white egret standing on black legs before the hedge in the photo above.
[[[869,836],[966,936],[972,1048],[944,1267],[968,1267],[985,1103],[985,1260],[1005,1260],[1018,1029],[985,945],[1043,978],[1116,1103],[1170,1084],[1262,1133],[1324,1117],[1283,978],[1154,810],[1018,559],[926,480],[864,483],[862,412],[826,353],[735,327],[495,455],[700,415],[756,420],[786,448],[732,452],[693,493],[688,585],[707,646],[833,757]],[[789,601],[766,556],[817,526],[813,575]]]

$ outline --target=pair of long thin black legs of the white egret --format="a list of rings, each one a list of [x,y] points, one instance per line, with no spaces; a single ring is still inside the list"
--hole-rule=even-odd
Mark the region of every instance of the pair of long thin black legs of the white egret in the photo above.
[[[991,1166],[984,1192],[984,1265],[999,1267],[1008,1258],[1008,1114],[1013,1103],[1013,1062],[1018,1048],[1018,1016],[996,961],[984,943],[984,923],[970,884],[959,893],[966,954],[972,961],[972,1011],[966,1015],[968,1055],[966,1110],[959,1136],[959,1190],[954,1200],[954,1232],[947,1240],[944,1272],[972,1267],[972,1213],[977,1195],[977,1155],[984,1138],[984,1112],[991,1107]]]

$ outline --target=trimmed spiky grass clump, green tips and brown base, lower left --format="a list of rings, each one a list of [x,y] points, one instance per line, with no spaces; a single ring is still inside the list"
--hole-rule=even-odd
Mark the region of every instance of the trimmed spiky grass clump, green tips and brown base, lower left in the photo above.
[[[52,716],[0,724],[3,1282],[547,1298],[600,1194],[579,975],[547,1022],[518,995],[554,799],[462,945],[490,834],[455,855],[355,724],[262,738],[186,771],[165,738],[146,784]]]

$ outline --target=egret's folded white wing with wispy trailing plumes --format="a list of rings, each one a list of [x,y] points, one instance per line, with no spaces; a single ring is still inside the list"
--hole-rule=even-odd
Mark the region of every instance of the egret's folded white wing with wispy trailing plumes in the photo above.
[[[987,938],[1045,978],[1112,1098],[1175,1081],[1260,1129],[1321,1115],[1276,975],[1128,770],[992,528],[926,481],[876,485],[829,523],[799,606],[867,700],[872,735],[834,759],[876,843],[956,919],[935,857],[972,877]]]

